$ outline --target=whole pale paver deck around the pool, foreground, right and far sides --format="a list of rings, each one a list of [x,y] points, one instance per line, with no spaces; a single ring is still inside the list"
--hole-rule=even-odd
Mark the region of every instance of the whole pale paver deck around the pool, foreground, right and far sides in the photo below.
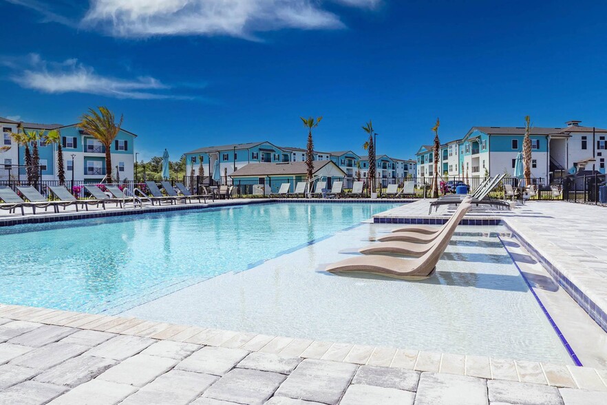
[[[418,200],[376,218],[429,218],[440,223],[453,211],[440,207],[428,216],[428,207],[429,200]],[[125,214],[123,209],[107,211]],[[76,214],[68,209],[35,218],[100,212]],[[27,218],[34,216],[0,212],[5,225]],[[597,323],[607,322],[601,318],[607,311],[604,208],[529,202],[513,211],[475,208],[467,218],[500,219],[515,236],[529,242],[544,267],[552,267],[576,287],[579,295],[568,292],[591,316],[598,316]],[[566,287],[566,280],[558,281]],[[317,342],[2,304],[0,364],[2,404],[574,405],[604,404],[607,399],[607,371],[595,368]]]

